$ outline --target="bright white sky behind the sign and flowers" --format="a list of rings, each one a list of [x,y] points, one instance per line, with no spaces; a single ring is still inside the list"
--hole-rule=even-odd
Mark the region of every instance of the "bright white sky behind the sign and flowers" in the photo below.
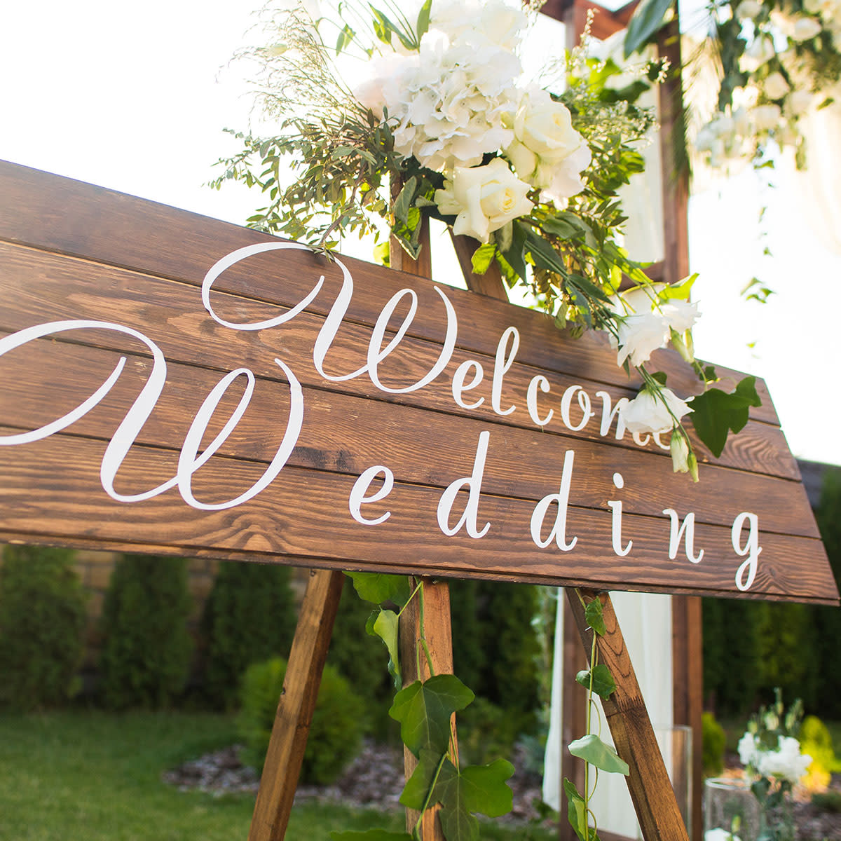
[[[236,149],[222,129],[247,126],[247,87],[225,65],[248,43],[254,3],[9,4],[0,28],[0,159],[241,224],[258,194],[203,185],[213,162]],[[777,180],[766,197],[745,172],[692,200],[690,257],[704,314],[696,351],[767,381],[796,456],[841,464],[830,362],[841,256],[808,230],[791,173]],[[773,260],[761,254],[762,204]],[[740,299],[754,274],[777,292],[769,304]]]

